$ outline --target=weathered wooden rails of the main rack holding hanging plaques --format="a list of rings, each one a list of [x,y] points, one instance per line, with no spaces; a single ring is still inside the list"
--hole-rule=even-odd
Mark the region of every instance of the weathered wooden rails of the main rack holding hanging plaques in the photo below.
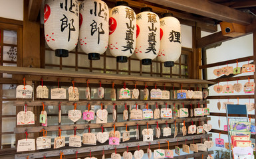
[[[14,67],[7,67],[7,66],[0,66],[0,73],[7,73],[12,74],[13,79],[16,79],[17,81],[20,81],[22,83],[22,79],[25,77],[27,84],[35,84],[35,87],[39,85],[39,82],[41,79],[45,81],[45,83],[49,85],[57,85],[57,81],[59,81],[66,85],[71,85],[71,81],[76,81],[75,85],[80,85],[85,87],[85,83],[89,80],[90,86],[98,86],[99,83],[102,83],[103,87],[112,87],[112,83],[115,83],[115,89],[118,87],[122,87],[124,83],[126,83],[126,87],[134,87],[134,84],[138,85],[138,89],[144,89],[144,85],[148,85],[148,88],[151,89],[155,85],[157,85],[158,88],[163,89],[166,87],[168,90],[172,90],[173,87],[176,89],[193,89],[193,90],[202,90],[203,88],[207,88],[208,85],[213,85],[215,82],[213,81],[206,81],[201,79],[172,79],[172,78],[146,78],[146,77],[138,77],[138,76],[122,76],[122,75],[114,75],[114,74],[96,74],[96,73],[83,73],[83,72],[70,72],[70,71],[64,71],[64,70],[49,70],[49,69],[39,69],[39,68],[14,68]],[[27,110],[35,111],[35,121],[38,123],[38,117],[37,113],[41,111],[42,109],[42,102],[45,103],[45,105],[53,105],[57,106],[59,105],[59,100],[39,100],[35,98],[35,101],[31,99],[17,99],[15,101],[15,106],[17,107],[17,112],[23,110],[23,106],[25,103],[27,103]],[[76,102],[78,105],[87,105],[90,103],[91,105],[100,105],[102,103],[103,105],[113,105],[113,103],[116,103],[116,105],[124,105],[125,103],[127,105],[135,105],[136,103],[138,105],[145,105],[148,103],[148,105],[155,105],[158,103],[158,105],[164,105],[168,103],[168,105],[172,105],[176,103],[177,105],[193,105],[193,108],[197,107],[199,104],[200,107],[203,107],[203,105],[209,103],[208,101],[203,101],[202,99],[170,99],[170,100],[148,100],[148,101],[142,101],[142,100],[116,100],[116,101],[110,101],[110,100],[80,100],[80,101],[67,101],[62,100],[62,105],[66,106],[72,106],[73,103]],[[110,128],[113,127],[115,124],[116,127],[125,127],[125,125],[133,126],[137,123],[141,126],[147,125],[156,125],[156,121],[158,121],[159,125],[164,125],[166,122],[168,124],[173,123],[183,123],[186,122],[186,125],[188,125],[189,122],[194,121],[195,123],[201,122],[201,125],[205,123],[205,121],[210,120],[209,117],[188,117],[188,118],[179,118],[179,119],[158,119],[158,120],[148,120],[148,121],[125,121],[125,122],[115,122],[115,123],[106,123],[104,124],[104,127]],[[24,138],[24,132],[27,131],[29,133],[29,138],[36,138],[39,136],[39,131],[42,129],[45,129],[47,131],[58,131],[59,127],[63,130],[73,130],[74,127],[77,127],[77,129],[88,129],[88,127],[92,129],[100,129],[102,125],[97,125],[95,123],[88,123],[88,124],[76,124],[74,125],[56,125],[56,126],[49,126],[49,127],[41,127],[40,125],[25,125],[25,126],[17,126],[14,130],[15,134],[17,134],[17,140]],[[168,136],[163,137],[161,136],[160,139],[154,139],[154,142],[152,142],[150,145],[151,148],[154,150],[158,148],[158,141],[160,142],[161,148],[166,148],[166,140],[170,141],[170,146],[173,148],[177,144],[184,144],[184,141],[186,141],[188,144],[193,142],[201,142],[202,140],[205,140],[209,137],[211,137],[211,134],[189,134],[187,136],[182,136],[182,134],[178,134],[176,138],[174,136]],[[123,152],[124,149],[126,149],[126,146],[129,146],[129,150],[136,150],[138,144],[140,144],[141,148],[144,148],[148,146],[147,142],[142,142],[142,140],[135,140],[135,138],[131,138],[129,142],[122,142],[120,146],[117,147],[117,152]],[[108,145],[108,144],[101,144],[100,146],[82,146],[81,148],[69,148],[68,146],[64,148],[60,148],[59,150],[36,150],[35,152],[25,152],[22,154],[16,154],[15,158],[27,158],[27,155],[31,156],[31,158],[43,158],[45,154],[47,154],[47,157],[51,158],[57,158],[57,156],[60,155],[60,151],[64,152],[66,155],[66,158],[73,158],[74,154],[76,153],[76,150],[78,151],[78,154],[80,156],[88,155],[88,152],[92,152],[92,155],[94,152],[101,151],[102,148],[104,148],[105,154],[111,154],[114,152],[115,146]],[[95,153],[97,155],[98,153]],[[176,158],[186,158],[186,156],[189,157],[199,157],[207,154],[213,154],[213,151],[209,152],[198,152],[195,154],[188,154],[185,156],[177,156]]]

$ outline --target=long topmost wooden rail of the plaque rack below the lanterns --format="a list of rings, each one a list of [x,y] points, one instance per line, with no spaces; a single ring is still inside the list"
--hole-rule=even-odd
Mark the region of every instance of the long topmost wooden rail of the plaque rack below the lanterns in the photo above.
[[[7,74],[20,74],[20,75],[39,75],[40,76],[52,76],[57,78],[69,77],[70,82],[72,78],[84,78],[84,79],[98,79],[98,83],[102,79],[108,79],[112,81],[122,80],[122,81],[142,81],[148,82],[152,81],[154,83],[191,83],[191,84],[215,84],[211,81],[201,80],[201,79],[175,79],[175,78],[147,78],[140,76],[128,76],[121,74],[100,74],[100,73],[88,73],[88,72],[72,72],[66,70],[52,70],[52,69],[41,69],[41,68],[21,68],[21,67],[10,67],[10,66],[0,66],[1,73]],[[57,81],[57,80],[55,80]]]

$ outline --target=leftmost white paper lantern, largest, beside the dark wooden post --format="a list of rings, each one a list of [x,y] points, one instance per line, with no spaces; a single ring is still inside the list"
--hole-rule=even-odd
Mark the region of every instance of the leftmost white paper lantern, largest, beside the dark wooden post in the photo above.
[[[45,40],[55,55],[68,57],[76,47],[79,35],[79,4],[77,0],[45,1]]]

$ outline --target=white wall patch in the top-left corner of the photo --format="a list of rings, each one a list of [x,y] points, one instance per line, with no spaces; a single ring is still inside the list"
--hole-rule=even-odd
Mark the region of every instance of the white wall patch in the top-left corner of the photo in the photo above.
[[[23,21],[23,0],[0,0],[0,17]]]

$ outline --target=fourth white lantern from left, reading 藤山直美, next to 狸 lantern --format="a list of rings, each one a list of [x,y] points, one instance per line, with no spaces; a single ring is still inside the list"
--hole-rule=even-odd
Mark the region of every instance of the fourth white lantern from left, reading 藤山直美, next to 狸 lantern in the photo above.
[[[158,56],[160,48],[160,19],[152,9],[141,9],[137,18],[137,42],[135,54],[142,64],[152,64],[152,60]]]

